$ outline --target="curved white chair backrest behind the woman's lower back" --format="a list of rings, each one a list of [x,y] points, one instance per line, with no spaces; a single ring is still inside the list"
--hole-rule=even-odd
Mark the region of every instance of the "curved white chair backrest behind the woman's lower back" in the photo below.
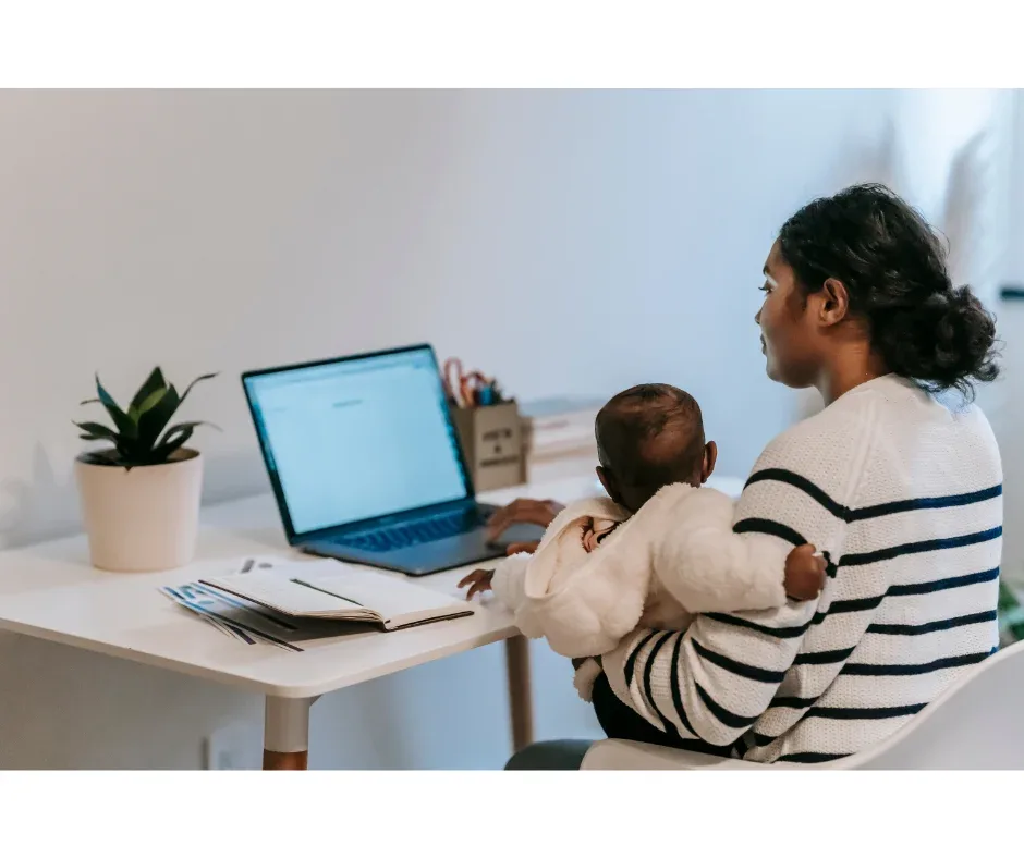
[[[1024,641],[986,659],[886,741],[834,768],[1024,769]]]

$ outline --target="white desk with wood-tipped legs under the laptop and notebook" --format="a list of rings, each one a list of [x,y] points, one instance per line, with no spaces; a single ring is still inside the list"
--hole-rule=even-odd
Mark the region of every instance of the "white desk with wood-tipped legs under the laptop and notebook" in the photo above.
[[[719,481],[719,488],[736,491],[735,481]],[[523,495],[565,502],[594,490],[593,477],[570,476],[484,499],[505,503]],[[305,768],[309,707],[320,695],[508,640],[513,747],[532,740],[527,648],[503,609],[488,604],[472,617],[309,641],[304,652],[245,646],[199,622],[157,588],[222,571],[225,561],[289,554],[277,508],[268,494],[204,510],[203,523],[196,562],[172,572],[94,569],[84,537],[0,553],[0,628],[263,694],[264,768]],[[462,574],[419,581],[458,595]]]

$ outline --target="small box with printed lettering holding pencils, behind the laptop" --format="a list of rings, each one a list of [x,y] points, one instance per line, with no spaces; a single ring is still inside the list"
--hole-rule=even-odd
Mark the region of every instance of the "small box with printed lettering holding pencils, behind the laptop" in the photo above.
[[[477,491],[504,489],[526,480],[523,424],[515,401],[453,408],[452,415]]]

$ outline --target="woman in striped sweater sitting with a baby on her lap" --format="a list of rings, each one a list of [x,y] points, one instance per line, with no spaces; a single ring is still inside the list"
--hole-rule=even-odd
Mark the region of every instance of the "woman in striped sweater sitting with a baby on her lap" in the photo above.
[[[878,185],[796,212],[764,273],[768,376],[826,407],[761,454],[734,530],[825,550],[826,587],[637,630],[604,655],[595,707],[619,738],[818,762],[886,738],[997,647],[1002,470],[968,404],[998,375],[995,324],[950,282],[928,224]],[[497,520],[543,512],[521,502]],[[586,746],[533,746],[510,768],[576,768]]]

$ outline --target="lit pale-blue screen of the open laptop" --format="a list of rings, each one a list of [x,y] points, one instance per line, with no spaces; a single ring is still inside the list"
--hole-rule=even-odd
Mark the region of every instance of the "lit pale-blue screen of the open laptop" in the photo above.
[[[470,495],[429,346],[244,384],[296,536]]]

